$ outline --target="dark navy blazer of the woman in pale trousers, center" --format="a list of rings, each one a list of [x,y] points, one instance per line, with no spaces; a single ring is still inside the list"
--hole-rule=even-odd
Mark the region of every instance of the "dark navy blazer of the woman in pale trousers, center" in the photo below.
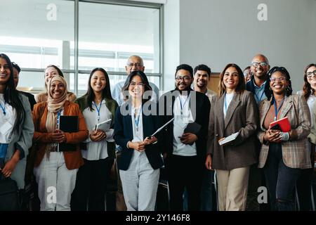
[[[154,110],[154,107],[148,105],[157,106],[157,103],[149,102],[143,104],[143,136],[144,139],[146,136],[150,136],[157,131],[159,127],[161,127],[161,120],[159,116],[156,115],[144,115],[145,108],[151,108]],[[128,115],[122,115],[121,109],[128,111]],[[125,112],[126,112],[125,111]],[[157,143],[147,145],[145,147],[145,154],[152,166],[152,169],[158,169],[162,167],[164,164],[162,161],[162,139],[159,137],[159,134],[156,136],[158,141]],[[132,148],[127,148],[126,144],[129,141],[133,140],[133,124],[131,119],[131,102],[126,102],[117,108],[117,112],[115,113],[115,122],[114,122],[114,140],[117,145],[121,146],[121,158],[118,162],[118,168],[122,170],[129,169],[129,165],[131,163],[131,157],[134,153]]]

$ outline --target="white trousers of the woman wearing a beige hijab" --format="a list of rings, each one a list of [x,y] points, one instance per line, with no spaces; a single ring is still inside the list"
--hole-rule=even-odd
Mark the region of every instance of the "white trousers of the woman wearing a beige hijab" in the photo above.
[[[76,184],[78,169],[67,169],[64,154],[51,152],[44,155],[34,175],[39,185],[41,211],[70,211],[70,198]]]

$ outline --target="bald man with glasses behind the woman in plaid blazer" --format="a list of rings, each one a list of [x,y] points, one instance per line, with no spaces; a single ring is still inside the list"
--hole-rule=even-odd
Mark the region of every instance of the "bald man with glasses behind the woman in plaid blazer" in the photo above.
[[[270,65],[268,58],[262,54],[257,54],[251,60],[251,74],[254,75],[251,77],[250,81],[246,83],[246,90],[251,91],[254,94],[257,105],[263,99],[267,98],[270,87],[270,79],[268,77],[268,71],[270,70]],[[261,144],[257,142],[257,153],[259,155],[261,149]],[[268,210],[265,208],[265,204],[260,207],[258,203],[258,187],[264,186],[264,176],[261,169],[258,168],[258,165],[251,165],[249,171],[249,184],[248,184],[248,195],[247,195],[247,204],[246,211],[259,211]]]

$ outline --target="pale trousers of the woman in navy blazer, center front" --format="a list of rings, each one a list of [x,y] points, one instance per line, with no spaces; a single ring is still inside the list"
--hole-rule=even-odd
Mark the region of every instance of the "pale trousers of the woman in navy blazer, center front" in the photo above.
[[[127,170],[119,170],[128,211],[154,211],[159,169],[152,169],[146,153],[134,150]]]

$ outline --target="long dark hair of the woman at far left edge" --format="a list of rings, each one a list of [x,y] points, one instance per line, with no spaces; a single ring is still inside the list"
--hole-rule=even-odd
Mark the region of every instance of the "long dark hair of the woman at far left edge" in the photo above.
[[[10,69],[10,77],[8,79],[8,82],[6,82],[6,89],[4,91],[4,101],[6,101],[6,103],[11,105],[12,108],[15,109],[16,117],[14,129],[17,129],[19,131],[20,123],[22,122],[22,117],[25,114],[25,110],[19,98],[18,91],[15,89],[13,79],[13,65],[11,63],[11,60],[4,53],[0,53],[0,58],[4,58],[4,60],[6,60],[6,63],[8,64],[8,67]]]

